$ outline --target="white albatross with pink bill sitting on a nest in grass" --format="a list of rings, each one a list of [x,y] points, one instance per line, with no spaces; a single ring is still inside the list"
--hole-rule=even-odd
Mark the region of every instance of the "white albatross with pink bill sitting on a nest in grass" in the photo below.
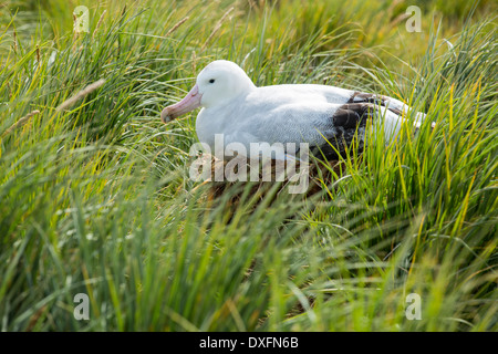
[[[247,152],[251,143],[308,143],[326,158],[344,153],[354,136],[363,149],[369,118],[376,123],[374,129],[384,129],[390,142],[411,110],[392,97],[326,85],[257,87],[240,66],[225,60],[208,64],[185,98],[164,108],[160,118],[167,123],[198,107],[203,108],[196,133],[211,150],[215,135],[224,134],[224,148],[231,143],[241,144]],[[415,128],[424,117],[416,114]],[[286,156],[295,153],[286,152]]]

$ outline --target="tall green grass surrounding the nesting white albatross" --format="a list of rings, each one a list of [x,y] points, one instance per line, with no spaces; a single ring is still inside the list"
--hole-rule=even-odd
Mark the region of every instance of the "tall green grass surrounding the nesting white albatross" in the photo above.
[[[92,3],[0,8],[2,331],[498,330],[495,2],[418,1],[421,33],[407,1]],[[196,114],[159,113],[215,59],[429,119],[387,147],[370,132],[317,196],[212,201],[187,174]]]

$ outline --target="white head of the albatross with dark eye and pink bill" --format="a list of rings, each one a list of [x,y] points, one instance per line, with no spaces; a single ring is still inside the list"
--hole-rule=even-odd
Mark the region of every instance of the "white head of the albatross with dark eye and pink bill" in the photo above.
[[[180,102],[167,106],[160,118],[167,123],[198,107],[212,107],[249,93],[255,84],[236,63],[217,60],[197,75],[190,92]]]

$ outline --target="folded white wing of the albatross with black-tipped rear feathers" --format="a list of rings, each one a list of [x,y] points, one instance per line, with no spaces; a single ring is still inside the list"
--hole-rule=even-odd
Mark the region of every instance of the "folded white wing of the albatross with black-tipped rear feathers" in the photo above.
[[[240,118],[232,131],[232,139],[250,136],[251,142],[308,143],[322,150],[328,158],[343,155],[355,140],[364,146],[366,122],[374,129],[382,126],[386,140],[401,127],[408,106],[395,98],[320,85],[288,85],[264,87],[253,101],[237,105]],[[332,147],[332,146],[333,147]],[[343,155],[344,156],[344,155]]]

